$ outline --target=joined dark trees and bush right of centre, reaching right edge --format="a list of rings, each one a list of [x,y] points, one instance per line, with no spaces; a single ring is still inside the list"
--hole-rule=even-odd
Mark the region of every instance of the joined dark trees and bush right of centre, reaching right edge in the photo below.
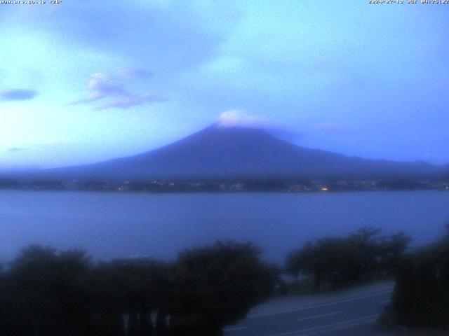
[[[348,237],[309,241],[288,255],[286,269],[304,282],[312,279],[314,290],[396,279],[381,323],[413,332],[424,330],[426,335],[447,335],[449,224],[447,228],[445,237],[415,251],[408,251],[410,239],[403,233],[384,237],[373,228],[361,228]]]

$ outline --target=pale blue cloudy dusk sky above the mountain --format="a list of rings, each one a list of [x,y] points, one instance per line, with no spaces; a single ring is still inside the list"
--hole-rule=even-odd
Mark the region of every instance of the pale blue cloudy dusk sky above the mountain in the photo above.
[[[217,120],[449,162],[449,5],[48,2],[0,5],[2,168],[140,153]]]

